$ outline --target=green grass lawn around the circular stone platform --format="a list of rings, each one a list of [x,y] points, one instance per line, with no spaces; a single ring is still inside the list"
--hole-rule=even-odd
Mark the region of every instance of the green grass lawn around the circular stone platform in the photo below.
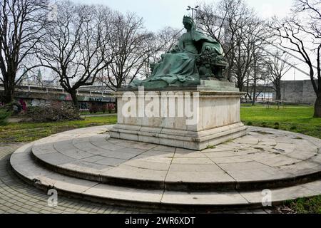
[[[242,105],[241,120],[245,125],[289,130],[295,133],[321,138],[321,118],[312,118],[313,107],[308,105],[275,106]],[[56,123],[9,123],[0,126],[0,142],[30,142],[39,138],[74,128],[116,123],[116,115],[88,117],[85,120]],[[321,196],[285,202],[287,207],[299,213],[320,213]]]

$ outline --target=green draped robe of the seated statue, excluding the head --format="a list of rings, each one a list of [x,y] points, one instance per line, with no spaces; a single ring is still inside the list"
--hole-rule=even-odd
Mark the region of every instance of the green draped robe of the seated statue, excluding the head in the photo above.
[[[223,55],[222,47],[213,38],[207,37],[194,29],[183,33],[173,53],[164,53],[161,56],[161,61],[156,63],[151,76],[144,81],[133,81],[131,86],[147,86],[148,83],[153,82],[157,87],[157,81],[162,82],[159,85],[164,85],[164,82],[167,83],[166,86],[199,85],[200,75],[195,58],[203,51],[205,46],[215,50],[218,55]]]

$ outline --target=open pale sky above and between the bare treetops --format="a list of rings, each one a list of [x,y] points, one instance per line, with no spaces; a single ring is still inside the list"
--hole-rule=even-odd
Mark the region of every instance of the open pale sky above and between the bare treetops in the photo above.
[[[183,28],[183,15],[190,14],[186,11],[187,6],[196,6],[199,2],[215,2],[218,0],[72,0],[83,4],[103,4],[111,9],[116,9],[123,13],[126,11],[136,12],[143,17],[145,26],[149,31],[158,31],[165,26]],[[258,15],[264,19],[271,16],[284,17],[290,13],[293,0],[245,0],[247,4],[257,11]],[[298,67],[307,70],[304,64]],[[294,75],[297,80],[309,79],[300,72],[290,70],[285,76],[285,80],[293,80]]]

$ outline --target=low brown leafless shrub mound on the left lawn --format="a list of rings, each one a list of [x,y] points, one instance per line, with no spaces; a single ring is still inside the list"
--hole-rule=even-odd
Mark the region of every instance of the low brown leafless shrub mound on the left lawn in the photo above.
[[[81,120],[79,110],[72,103],[51,101],[46,105],[28,108],[26,115],[34,122]]]

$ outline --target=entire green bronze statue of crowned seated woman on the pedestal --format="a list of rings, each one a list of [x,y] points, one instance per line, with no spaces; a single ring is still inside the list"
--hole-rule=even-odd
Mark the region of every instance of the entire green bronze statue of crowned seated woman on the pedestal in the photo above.
[[[220,43],[196,31],[193,19],[184,16],[186,32],[178,44],[168,53],[161,55],[161,61],[154,63],[151,76],[143,81],[133,81],[131,87],[145,88],[188,87],[200,85],[200,78],[222,79],[224,53]]]

